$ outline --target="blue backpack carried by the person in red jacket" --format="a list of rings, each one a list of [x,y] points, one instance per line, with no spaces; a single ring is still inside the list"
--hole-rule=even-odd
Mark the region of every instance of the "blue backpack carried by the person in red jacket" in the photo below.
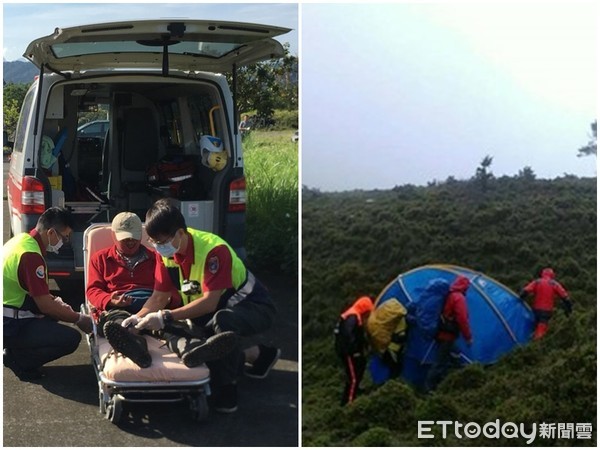
[[[413,320],[425,336],[433,339],[439,331],[449,293],[450,283],[442,278],[435,278],[421,292],[418,301],[410,305]]]

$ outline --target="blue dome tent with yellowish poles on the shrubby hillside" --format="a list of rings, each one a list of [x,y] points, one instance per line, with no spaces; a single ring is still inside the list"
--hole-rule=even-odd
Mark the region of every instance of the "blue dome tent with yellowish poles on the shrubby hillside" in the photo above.
[[[473,344],[469,347],[462,336],[457,340],[462,364],[492,364],[515,346],[530,340],[534,325],[531,309],[511,289],[463,267],[430,265],[403,273],[382,291],[375,308],[396,299],[410,309],[410,303],[418,302],[420,293],[431,280],[442,278],[452,283],[458,275],[471,281],[466,297]],[[435,341],[426,337],[416,324],[409,323],[402,377],[412,384],[421,385],[436,351]],[[381,374],[376,375],[378,367],[377,361],[373,361],[371,371],[374,380],[381,379]]]

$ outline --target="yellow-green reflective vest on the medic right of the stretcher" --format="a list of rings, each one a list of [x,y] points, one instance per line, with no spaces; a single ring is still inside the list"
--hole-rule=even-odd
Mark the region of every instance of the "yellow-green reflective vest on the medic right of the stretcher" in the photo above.
[[[216,234],[208,233],[206,231],[194,230],[193,228],[187,229],[188,233],[192,236],[194,242],[194,264],[190,270],[190,280],[196,280],[200,283],[200,286],[204,284],[204,266],[206,265],[206,257],[212,249],[220,245],[224,245],[231,254],[231,279],[233,281],[233,287],[237,290],[246,281],[246,266],[242,260],[237,256],[235,251],[229,246],[227,242],[221,239]],[[172,268],[179,265],[173,258],[162,258],[165,267]],[[183,284],[183,273],[179,270],[179,285]],[[180,292],[183,304],[186,305],[191,301],[202,297],[202,293],[199,292],[196,295],[185,295]]]

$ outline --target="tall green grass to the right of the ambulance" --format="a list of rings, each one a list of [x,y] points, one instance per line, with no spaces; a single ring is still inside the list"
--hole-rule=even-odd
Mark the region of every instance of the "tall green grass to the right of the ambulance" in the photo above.
[[[252,131],[244,141],[246,249],[251,267],[298,273],[298,144],[293,130]]]

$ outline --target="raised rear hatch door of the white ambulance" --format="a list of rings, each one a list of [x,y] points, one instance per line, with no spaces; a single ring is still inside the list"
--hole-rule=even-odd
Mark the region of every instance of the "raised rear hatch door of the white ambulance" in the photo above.
[[[209,20],[144,20],[57,28],[31,42],[23,55],[56,72],[162,68],[231,72],[283,56],[273,37],[288,28]],[[165,73],[165,74],[166,74]]]

